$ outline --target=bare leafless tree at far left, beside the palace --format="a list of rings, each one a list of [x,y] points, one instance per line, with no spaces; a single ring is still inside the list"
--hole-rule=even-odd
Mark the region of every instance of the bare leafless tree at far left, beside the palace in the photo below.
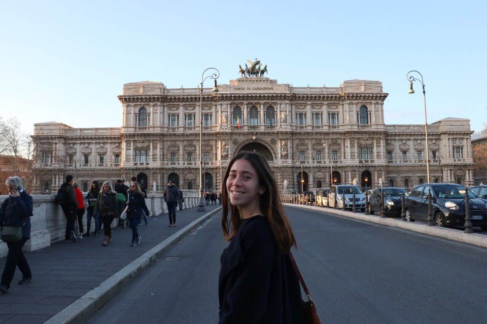
[[[12,173],[23,177],[24,188],[29,191],[34,162],[33,140],[20,130],[17,118],[4,120],[0,117],[0,154],[9,158]]]

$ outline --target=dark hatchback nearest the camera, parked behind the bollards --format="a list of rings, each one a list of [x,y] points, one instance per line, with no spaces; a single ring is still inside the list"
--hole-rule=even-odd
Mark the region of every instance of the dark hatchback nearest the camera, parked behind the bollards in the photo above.
[[[428,217],[428,194],[431,192],[432,214],[436,226],[465,224],[465,192],[469,196],[473,226],[487,230],[487,205],[470,190],[456,184],[422,184],[415,186],[406,198],[406,221],[424,221]]]

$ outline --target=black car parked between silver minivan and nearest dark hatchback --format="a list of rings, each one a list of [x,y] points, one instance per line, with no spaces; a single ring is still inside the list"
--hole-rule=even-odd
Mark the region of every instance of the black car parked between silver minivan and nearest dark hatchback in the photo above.
[[[382,194],[386,194],[384,202],[382,202]],[[401,194],[404,198],[409,196],[409,193],[402,188],[379,188],[375,189],[369,196],[369,211],[373,214],[375,211],[380,212],[382,203],[385,205],[386,216],[390,214],[400,214],[402,209]]]

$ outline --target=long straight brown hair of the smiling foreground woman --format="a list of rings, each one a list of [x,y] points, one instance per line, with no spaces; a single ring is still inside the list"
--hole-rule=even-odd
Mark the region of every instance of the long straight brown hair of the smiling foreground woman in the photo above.
[[[237,154],[230,161],[227,170],[225,171],[222,185],[223,237],[225,240],[231,241],[242,222],[237,206],[230,203],[226,186],[233,163],[240,159],[249,161],[257,172],[259,186],[265,189],[264,193],[260,195],[260,209],[269,222],[277,246],[283,253],[289,253],[293,245],[297,247],[296,238],[294,237],[291,224],[286,217],[286,212],[284,211],[283,204],[279,198],[279,193],[277,193],[277,183],[275,182],[272,170],[265,158],[256,152],[242,152]],[[230,217],[228,217],[229,212]]]

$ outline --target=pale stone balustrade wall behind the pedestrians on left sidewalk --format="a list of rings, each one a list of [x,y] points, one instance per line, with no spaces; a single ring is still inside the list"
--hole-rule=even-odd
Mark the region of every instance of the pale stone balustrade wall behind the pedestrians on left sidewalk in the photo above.
[[[196,190],[182,190],[184,203],[183,209],[192,208],[198,205],[198,192]],[[66,218],[62,212],[61,206],[54,203],[55,194],[51,195],[32,195],[33,199],[33,216],[30,218],[31,231],[30,240],[24,245],[24,251],[34,251],[51,243],[64,240],[64,233],[66,229]],[[7,199],[8,196],[0,196],[0,204]],[[160,215],[167,213],[167,206],[161,193],[148,194],[146,204],[151,213]],[[179,206],[177,208],[179,210]],[[116,226],[116,221],[112,223],[112,227]],[[86,231],[86,213],[83,217],[83,226]],[[94,221],[92,221],[91,228],[94,228]],[[7,244],[0,241],[0,257],[7,255]]]

